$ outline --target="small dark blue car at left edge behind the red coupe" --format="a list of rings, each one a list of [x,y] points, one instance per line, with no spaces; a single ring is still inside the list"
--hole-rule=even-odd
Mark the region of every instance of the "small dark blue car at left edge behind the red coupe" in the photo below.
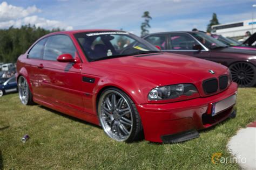
[[[17,82],[15,76],[6,80],[3,84],[0,84],[0,97],[6,93],[17,91]]]

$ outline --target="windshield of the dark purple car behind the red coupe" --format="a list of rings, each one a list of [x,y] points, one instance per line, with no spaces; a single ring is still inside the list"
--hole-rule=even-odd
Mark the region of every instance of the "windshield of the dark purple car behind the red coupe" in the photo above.
[[[193,32],[191,33],[194,38],[199,40],[201,44],[206,46],[207,48],[214,49],[214,48],[223,48],[227,47],[227,45],[223,44],[223,42],[220,42],[219,40],[208,36],[207,34],[203,32]]]

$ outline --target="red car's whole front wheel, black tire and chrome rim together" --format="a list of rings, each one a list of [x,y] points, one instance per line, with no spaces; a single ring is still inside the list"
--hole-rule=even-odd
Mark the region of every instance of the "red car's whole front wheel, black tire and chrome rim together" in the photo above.
[[[136,105],[122,90],[108,88],[103,91],[98,101],[98,118],[107,136],[114,140],[131,143],[143,138]]]

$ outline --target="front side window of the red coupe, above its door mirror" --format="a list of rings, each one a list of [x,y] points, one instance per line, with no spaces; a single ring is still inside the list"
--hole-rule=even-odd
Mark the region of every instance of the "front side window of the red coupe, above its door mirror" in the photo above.
[[[56,61],[61,54],[71,54],[75,56],[76,48],[68,36],[57,35],[48,38],[44,48],[44,60]]]

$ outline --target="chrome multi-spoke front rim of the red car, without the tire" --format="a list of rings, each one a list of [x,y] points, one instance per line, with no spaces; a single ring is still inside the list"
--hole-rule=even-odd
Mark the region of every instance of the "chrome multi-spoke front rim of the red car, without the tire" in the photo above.
[[[106,91],[99,101],[99,120],[107,135],[127,140],[132,132],[132,110],[126,98],[115,90]]]

